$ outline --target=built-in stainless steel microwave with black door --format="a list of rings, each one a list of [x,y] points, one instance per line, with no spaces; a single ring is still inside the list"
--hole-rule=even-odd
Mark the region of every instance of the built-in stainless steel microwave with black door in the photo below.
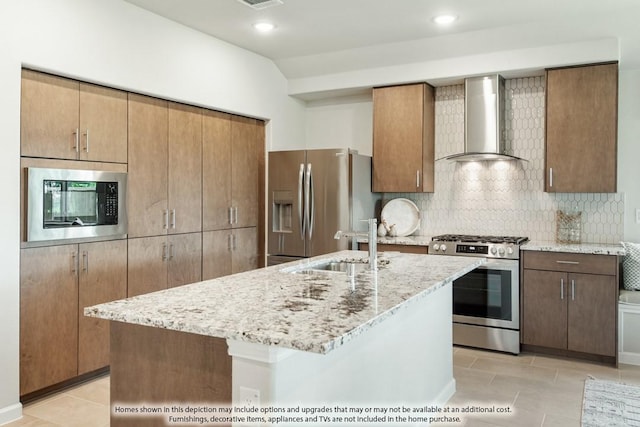
[[[27,243],[127,236],[127,174],[27,168]]]

